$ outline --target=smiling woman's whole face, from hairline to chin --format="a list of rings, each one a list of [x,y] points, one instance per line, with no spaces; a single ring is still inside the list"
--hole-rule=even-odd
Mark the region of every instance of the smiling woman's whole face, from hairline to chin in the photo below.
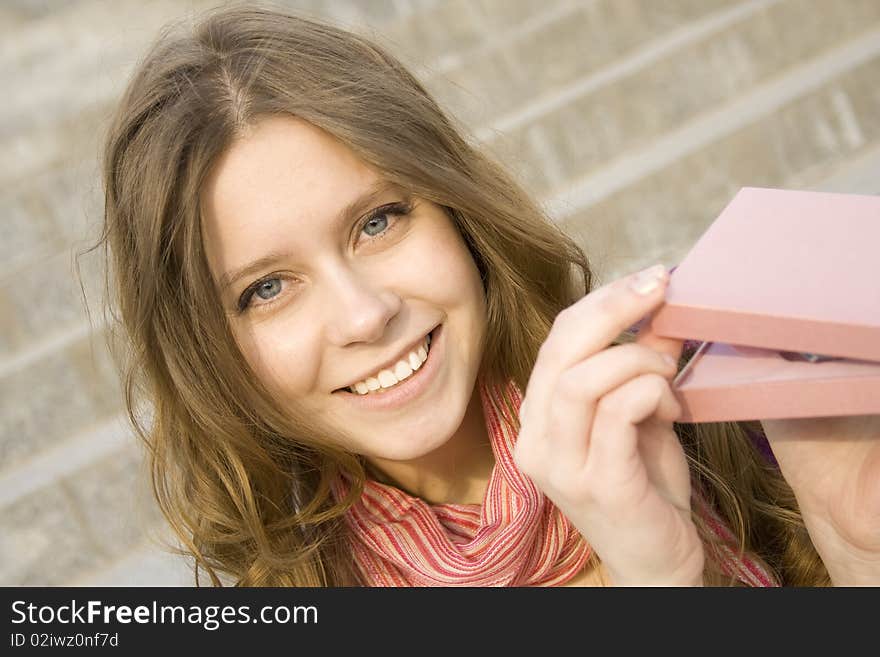
[[[348,436],[340,441],[351,451],[405,461],[461,424],[486,307],[447,214],[382,182],[322,130],[266,118],[211,171],[202,235],[235,339],[262,382]],[[340,391],[393,382],[377,373],[405,373],[395,365],[438,325],[409,378],[366,396]],[[400,392],[409,394],[389,404]]]

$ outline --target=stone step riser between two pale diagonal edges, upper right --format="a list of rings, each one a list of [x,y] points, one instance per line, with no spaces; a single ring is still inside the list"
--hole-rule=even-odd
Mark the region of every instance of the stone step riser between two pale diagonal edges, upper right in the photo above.
[[[776,35],[796,29],[788,26],[799,25],[798,17],[808,13],[803,5],[792,0],[754,2],[738,7],[751,12],[737,15],[728,10],[725,17],[736,18],[735,22],[706,21],[705,31],[697,32],[698,40],[682,40],[671,51],[656,49],[658,56],[644,61],[640,69],[605,84],[588,77],[582,83],[583,93],[574,97],[563,92],[560,106],[545,101],[540,114],[529,115],[524,106],[518,112],[525,121],[504,122],[503,138],[489,144],[502,159],[521,163],[520,176],[535,193],[553,196],[622,155],[638,157],[652,140],[699,121],[709,111],[742,104],[740,98],[752,89],[805,62],[851,40],[870,41],[873,30],[880,27],[880,4],[837,2],[835,13],[827,12],[826,31],[807,31],[804,43],[789,35],[791,54],[775,55]],[[848,19],[847,9],[861,20]],[[721,32],[712,29],[719,23]],[[870,44],[863,48],[870,50]],[[646,49],[654,48],[648,44]]]

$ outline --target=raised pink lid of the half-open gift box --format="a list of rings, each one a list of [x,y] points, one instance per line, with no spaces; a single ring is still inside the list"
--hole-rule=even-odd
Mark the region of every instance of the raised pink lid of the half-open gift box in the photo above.
[[[880,361],[880,197],[744,187],[670,277],[653,330]]]

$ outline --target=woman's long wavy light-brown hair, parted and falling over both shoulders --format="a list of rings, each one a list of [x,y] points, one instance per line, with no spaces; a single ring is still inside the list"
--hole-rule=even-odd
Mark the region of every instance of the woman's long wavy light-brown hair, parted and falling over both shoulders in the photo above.
[[[445,209],[483,277],[487,381],[525,389],[553,319],[592,289],[593,274],[522,186],[369,40],[269,6],[214,10],[159,35],[109,126],[105,222],[92,247],[107,258],[110,347],[149,449],[156,499],[194,558],[197,584],[205,572],[214,585],[358,585],[342,515],[360,494],[364,462],[334,447],[319,419],[280,407],[260,385],[232,338],[201,243],[208,171],[273,114],[325,130]],[[791,490],[743,427],[676,427],[695,484],[739,547],[783,583],[826,583]],[[358,484],[337,502],[330,483],[340,472]],[[713,554],[707,582],[733,583]]]

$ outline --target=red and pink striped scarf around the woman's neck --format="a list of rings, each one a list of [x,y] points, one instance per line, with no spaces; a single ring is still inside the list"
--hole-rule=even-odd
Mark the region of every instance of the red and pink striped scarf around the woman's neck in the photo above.
[[[486,428],[495,454],[482,504],[428,504],[400,489],[368,479],[346,512],[353,557],[371,586],[558,586],[583,570],[591,548],[568,519],[514,465],[514,421],[522,393],[478,382]],[[337,479],[334,497],[350,482]],[[732,534],[705,504],[709,525],[729,541]],[[724,571],[750,586],[772,578],[732,550],[720,553]]]

